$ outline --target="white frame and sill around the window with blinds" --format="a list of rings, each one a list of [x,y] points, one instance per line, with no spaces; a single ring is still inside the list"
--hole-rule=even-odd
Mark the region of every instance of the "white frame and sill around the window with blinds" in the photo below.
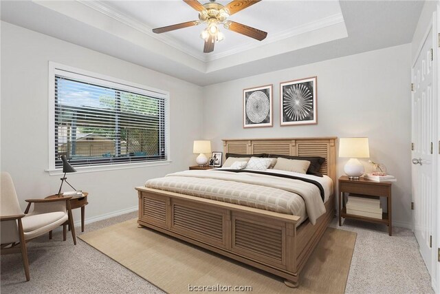
[[[48,71],[48,168],[45,170],[49,172],[50,176],[63,174],[63,168],[55,166],[55,76],[61,74],[68,76],[69,78],[77,78],[78,81],[87,81],[90,83],[98,83],[104,87],[115,87],[115,83],[118,84],[119,90],[132,92],[133,88],[136,89],[138,94],[144,94],[146,96],[153,96],[157,98],[164,98],[165,101],[165,153],[166,160],[144,161],[144,162],[122,162],[112,165],[91,165],[83,167],[75,167],[80,173],[94,172],[94,171],[108,171],[117,169],[133,169],[140,167],[152,167],[159,165],[169,165],[172,162],[170,158],[170,94],[167,91],[148,87],[129,81],[124,81],[120,78],[113,78],[111,76],[105,76],[95,72],[89,72],[87,70],[80,70],[76,67],[63,65],[61,63],[55,63],[49,61]]]

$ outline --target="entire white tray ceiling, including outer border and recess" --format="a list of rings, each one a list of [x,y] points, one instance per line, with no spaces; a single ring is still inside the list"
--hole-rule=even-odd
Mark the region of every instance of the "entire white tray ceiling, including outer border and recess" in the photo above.
[[[181,0],[1,1],[0,5],[2,21],[209,85],[410,43],[423,1],[263,0],[230,20],[265,30],[267,38],[260,42],[221,29],[225,40],[209,54],[203,53],[199,37],[203,24],[164,34],[151,32],[197,19],[197,12]]]

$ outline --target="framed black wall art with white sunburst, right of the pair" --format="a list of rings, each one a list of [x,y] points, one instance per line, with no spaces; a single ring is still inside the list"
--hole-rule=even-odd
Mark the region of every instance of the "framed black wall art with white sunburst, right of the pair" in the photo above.
[[[313,125],[318,123],[317,77],[280,83],[281,125]]]

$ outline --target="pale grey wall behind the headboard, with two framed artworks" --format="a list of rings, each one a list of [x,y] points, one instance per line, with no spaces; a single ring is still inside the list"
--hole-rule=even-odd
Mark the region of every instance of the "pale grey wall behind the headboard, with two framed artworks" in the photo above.
[[[367,136],[371,160],[398,180],[393,221],[410,227],[410,55],[399,45],[203,87],[204,138],[221,151],[222,138]],[[318,125],[280,127],[279,83],[309,76],[318,76]],[[243,89],[271,83],[274,127],[243,129]],[[338,176],[346,161],[337,158]]]

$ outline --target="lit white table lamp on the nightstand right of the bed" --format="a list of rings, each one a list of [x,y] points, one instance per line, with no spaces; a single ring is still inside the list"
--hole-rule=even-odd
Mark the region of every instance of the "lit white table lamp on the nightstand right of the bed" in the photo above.
[[[350,158],[344,165],[344,172],[350,180],[359,180],[364,174],[364,165],[358,158],[369,158],[369,138],[340,138],[339,157]]]

